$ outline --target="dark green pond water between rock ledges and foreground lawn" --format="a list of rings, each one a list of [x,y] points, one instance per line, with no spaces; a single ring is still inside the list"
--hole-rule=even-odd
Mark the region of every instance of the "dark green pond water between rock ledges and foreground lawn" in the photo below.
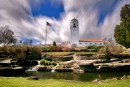
[[[109,73],[74,73],[74,72],[39,72],[39,71],[26,71],[28,75],[36,75],[39,79],[65,79],[76,81],[93,81],[96,78],[102,80],[111,79],[114,77],[122,77],[130,75],[130,72],[109,72]]]

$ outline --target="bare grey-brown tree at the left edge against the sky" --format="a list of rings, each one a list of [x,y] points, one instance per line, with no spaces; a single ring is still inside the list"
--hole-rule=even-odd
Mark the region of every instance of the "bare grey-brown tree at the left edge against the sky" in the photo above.
[[[7,46],[12,43],[16,43],[14,32],[10,30],[9,26],[0,27],[0,44]]]

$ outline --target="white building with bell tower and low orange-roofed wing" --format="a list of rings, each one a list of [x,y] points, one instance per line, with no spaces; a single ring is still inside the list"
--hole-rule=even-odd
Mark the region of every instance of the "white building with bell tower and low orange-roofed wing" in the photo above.
[[[77,19],[72,19],[70,22],[70,47],[84,47],[84,46],[104,46],[102,39],[79,39],[79,24]]]

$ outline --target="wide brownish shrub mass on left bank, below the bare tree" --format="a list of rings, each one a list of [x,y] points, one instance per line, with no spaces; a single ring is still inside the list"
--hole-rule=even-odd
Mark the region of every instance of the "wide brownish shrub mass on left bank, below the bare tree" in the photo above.
[[[0,57],[13,57],[18,59],[41,59],[41,48],[38,46],[6,46],[0,47]]]

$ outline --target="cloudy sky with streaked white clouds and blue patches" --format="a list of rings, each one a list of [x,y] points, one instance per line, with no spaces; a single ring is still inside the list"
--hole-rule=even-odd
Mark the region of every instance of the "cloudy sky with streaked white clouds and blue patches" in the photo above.
[[[113,38],[122,6],[130,0],[0,0],[0,27],[33,44],[70,41],[70,21],[79,21],[80,38]]]

